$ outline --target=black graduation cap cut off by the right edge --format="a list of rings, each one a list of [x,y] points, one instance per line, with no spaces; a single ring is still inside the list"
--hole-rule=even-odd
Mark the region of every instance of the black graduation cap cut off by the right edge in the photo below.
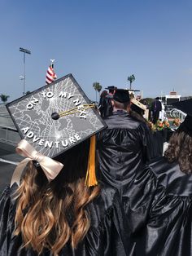
[[[174,102],[172,106],[186,113],[185,120],[181,123],[177,131],[185,131],[185,133],[192,136],[192,99]]]

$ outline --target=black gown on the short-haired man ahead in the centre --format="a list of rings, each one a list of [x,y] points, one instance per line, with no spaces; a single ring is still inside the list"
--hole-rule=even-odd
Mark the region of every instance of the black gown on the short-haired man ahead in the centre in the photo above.
[[[150,159],[150,131],[146,123],[121,110],[105,121],[108,127],[97,137],[98,176],[126,196],[130,181]]]

